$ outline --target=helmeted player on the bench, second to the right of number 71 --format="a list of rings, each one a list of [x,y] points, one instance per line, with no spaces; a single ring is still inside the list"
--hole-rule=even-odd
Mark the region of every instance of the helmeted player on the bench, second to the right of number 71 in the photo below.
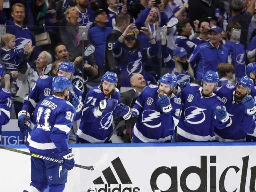
[[[229,115],[221,99],[213,93],[218,81],[216,72],[207,71],[202,87],[190,84],[183,89],[180,95],[183,110],[177,126],[178,141],[213,141],[214,127],[226,127]]]

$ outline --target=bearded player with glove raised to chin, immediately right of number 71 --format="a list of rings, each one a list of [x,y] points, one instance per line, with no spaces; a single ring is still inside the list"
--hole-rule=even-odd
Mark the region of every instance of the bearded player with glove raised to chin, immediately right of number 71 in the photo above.
[[[133,127],[132,142],[170,142],[180,119],[182,105],[173,94],[175,75],[163,75],[158,86],[147,86],[133,105],[138,120]]]

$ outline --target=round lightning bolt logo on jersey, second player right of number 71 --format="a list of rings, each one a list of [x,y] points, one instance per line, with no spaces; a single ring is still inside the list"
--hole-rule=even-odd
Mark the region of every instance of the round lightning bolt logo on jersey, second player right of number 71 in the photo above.
[[[206,109],[199,107],[188,107],[184,111],[185,121],[190,124],[200,124],[205,120],[205,113],[203,112]]]

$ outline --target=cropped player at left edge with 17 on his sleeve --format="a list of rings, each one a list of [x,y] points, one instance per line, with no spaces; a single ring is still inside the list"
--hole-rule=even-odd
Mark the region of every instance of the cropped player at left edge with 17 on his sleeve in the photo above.
[[[4,68],[0,64],[0,84],[2,77],[4,75]],[[10,121],[10,111],[12,106],[12,97],[9,91],[0,86],[0,144],[1,144],[1,134],[2,125],[6,125]]]

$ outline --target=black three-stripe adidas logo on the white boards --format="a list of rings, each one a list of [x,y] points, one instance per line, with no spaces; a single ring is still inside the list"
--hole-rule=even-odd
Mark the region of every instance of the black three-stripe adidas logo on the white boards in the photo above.
[[[94,185],[104,185],[102,188],[89,188],[87,192],[139,192],[139,187],[133,187],[131,186],[132,181],[130,177],[128,176],[124,165],[119,157],[115,158],[113,161],[111,161],[111,164],[113,165],[115,172],[121,181],[121,184],[118,183],[117,178],[115,177],[112,169],[107,167],[102,171],[102,174],[104,178],[107,181],[107,184],[104,183],[102,180],[102,177],[98,177],[95,180],[93,180]],[[111,186],[112,185],[112,186]],[[114,185],[114,186],[113,186]],[[117,187],[118,185],[118,187]],[[124,186],[125,185],[125,186]]]

